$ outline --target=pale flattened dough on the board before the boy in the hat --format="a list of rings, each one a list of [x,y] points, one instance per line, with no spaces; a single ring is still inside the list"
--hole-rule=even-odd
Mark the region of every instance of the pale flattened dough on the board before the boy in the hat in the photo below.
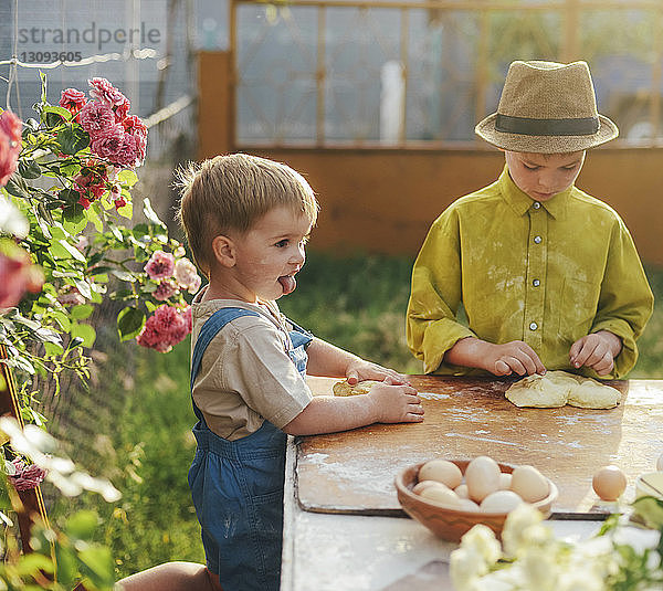
[[[516,407],[554,409],[570,404],[582,409],[612,409],[619,404],[619,390],[566,371],[528,376],[505,392]]]

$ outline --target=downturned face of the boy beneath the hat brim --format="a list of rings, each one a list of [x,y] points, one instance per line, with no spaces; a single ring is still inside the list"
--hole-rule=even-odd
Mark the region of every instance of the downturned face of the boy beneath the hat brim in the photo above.
[[[571,154],[504,154],[512,180],[535,201],[548,201],[568,189],[576,182],[585,161],[585,150]]]

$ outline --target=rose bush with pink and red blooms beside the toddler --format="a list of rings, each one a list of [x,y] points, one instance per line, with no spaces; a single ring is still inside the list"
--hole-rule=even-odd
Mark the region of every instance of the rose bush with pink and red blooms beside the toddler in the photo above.
[[[18,378],[22,419],[42,428],[45,419],[32,407],[40,380],[54,383],[57,393],[63,371],[84,381],[90,378],[86,352],[96,338],[90,324],[96,306],[119,304],[120,340],[168,351],[191,331],[185,294],[200,287],[196,267],[181,244],[168,236],[149,199],[141,203],[143,220],[133,221],[131,188],[138,180],[135,169],[146,156],[146,126],[129,114],[129,101],[107,80],[88,83],[87,96],[66,88],[60,104],[51,105],[42,75],[35,118],[21,122],[0,109],[0,362]],[[6,425],[7,431],[11,429]],[[71,466],[63,461],[69,469],[63,476],[63,462],[22,445],[22,434],[13,435],[1,447],[7,493],[0,494],[1,519],[9,520],[7,511],[17,506],[12,490],[30,489],[44,477],[64,494],[107,489],[75,472],[71,461]],[[90,523],[83,528],[88,534]],[[51,536],[55,546],[62,541],[59,551],[70,552],[67,584],[76,572],[85,574],[81,548],[67,546],[71,536],[45,527],[40,532],[36,540]],[[35,576],[57,573],[62,567],[57,560],[49,562],[54,556],[49,547],[44,541],[45,562],[40,559],[34,568],[23,569],[28,579],[15,572],[23,559],[12,553],[13,547],[0,547],[6,557],[13,557],[9,567],[0,564],[0,588],[14,577],[4,588],[30,580],[62,589],[57,576],[55,581]],[[105,549],[94,552],[104,559],[96,561],[96,570],[87,563],[87,571],[96,574],[91,580],[87,572],[86,584],[109,588],[112,560]]]

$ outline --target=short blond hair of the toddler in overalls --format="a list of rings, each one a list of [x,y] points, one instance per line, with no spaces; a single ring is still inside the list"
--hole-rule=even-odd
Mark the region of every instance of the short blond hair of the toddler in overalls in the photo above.
[[[208,275],[212,240],[229,231],[244,233],[275,207],[285,205],[315,224],[318,203],[304,177],[281,162],[232,154],[176,171],[180,189],[177,218],[196,264]]]

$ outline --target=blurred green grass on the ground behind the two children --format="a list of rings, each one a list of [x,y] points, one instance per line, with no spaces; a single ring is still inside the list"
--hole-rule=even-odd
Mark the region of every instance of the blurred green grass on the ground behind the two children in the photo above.
[[[404,342],[404,309],[411,260],[380,256],[336,258],[312,253],[295,294],[282,310],[317,336],[400,371],[421,372]],[[631,378],[663,378],[663,270],[648,268],[656,309],[640,340]],[[194,423],[189,394],[189,339],[168,355],[134,348],[135,368],[125,369],[126,346],[109,353],[96,386],[114,404],[106,432],[94,441],[93,474],[105,474],[122,490],[115,505],[96,496],[60,500],[51,517],[61,523],[74,508],[95,508],[99,540],[117,560],[119,577],[168,560],[204,561],[198,521],[187,486]],[[94,410],[86,411],[88,420]],[[75,448],[75,442],[74,442]],[[75,451],[74,458],[78,458]]]

